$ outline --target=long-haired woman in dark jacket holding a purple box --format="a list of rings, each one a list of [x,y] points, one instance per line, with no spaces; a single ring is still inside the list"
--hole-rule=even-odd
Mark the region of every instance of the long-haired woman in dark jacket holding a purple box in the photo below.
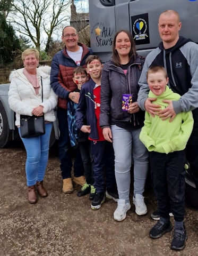
[[[100,126],[107,141],[113,142],[115,176],[119,194],[114,219],[122,221],[131,208],[129,194],[134,160],[133,203],[138,215],[147,213],[144,186],[148,172],[148,151],[139,139],[144,112],[137,105],[138,81],[144,59],[136,53],[129,31],[116,33],[113,58],[105,63],[101,78]]]

